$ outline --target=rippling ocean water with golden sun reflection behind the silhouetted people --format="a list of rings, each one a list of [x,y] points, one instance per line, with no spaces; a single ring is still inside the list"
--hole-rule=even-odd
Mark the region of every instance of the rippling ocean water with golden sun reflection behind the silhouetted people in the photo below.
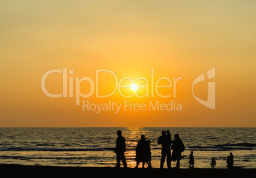
[[[47,165],[71,167],[115,167],[113,151],[117,130],[122,130],[128,167],[135,167],[136,145],[141,134],[150,140],[152,167],[160,167],[161,146],[157,144],[162,130],[171,137],[179,134],[185,144],[181,168],[188,168],[189,154],[194,152],[196,168],[227,168],[227,156],[234,155],[234,167],[256,168],[256,128],[0,128],[0,164]],[[121,163],[122,165],[122,163]],[[171,162],[174,167],[176,162]],[[141,167],[141,165],[139,165]],[[164,168],[166,168],[166,162]]]

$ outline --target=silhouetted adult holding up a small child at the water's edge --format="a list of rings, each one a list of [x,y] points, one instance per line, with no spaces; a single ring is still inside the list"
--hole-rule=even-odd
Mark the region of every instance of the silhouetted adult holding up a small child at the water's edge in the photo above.
[[[166,131],[162,130],[162,136],[158,139],[158,144],[162,144],[162,151],[161,151],[161,161],[160,161],[160,168],[164,167],[164,160],[167,156],[167,167],[171,168],[171,148],[170,148],[170,140],[169,137],[166,135]]]

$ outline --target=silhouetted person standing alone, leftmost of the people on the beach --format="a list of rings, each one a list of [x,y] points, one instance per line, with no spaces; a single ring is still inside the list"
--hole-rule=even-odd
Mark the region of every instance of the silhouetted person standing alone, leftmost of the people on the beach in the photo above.
[[[124,167],[127,167],[127,163],[125,160],[124,152],[126,151],[125,148],[125,139],[122,137],[121,130],[117,130],[117,144],[115,147],[115,154],[117,154],[117,167],[120,167],[120,162],[122,160],[122,163]]]

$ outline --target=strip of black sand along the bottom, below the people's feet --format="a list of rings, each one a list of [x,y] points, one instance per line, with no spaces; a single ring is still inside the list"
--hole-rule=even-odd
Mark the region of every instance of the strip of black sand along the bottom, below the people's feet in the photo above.
[[[210,168],[112,168],[112,167],[50,167],[50,166],[27,166],[27,165],[0,165],[1,174],[26,176],[26,177],[157,177],[161,175],[168,176],[253,176],[256,169],[233,168],[233,169],[210,169]]]

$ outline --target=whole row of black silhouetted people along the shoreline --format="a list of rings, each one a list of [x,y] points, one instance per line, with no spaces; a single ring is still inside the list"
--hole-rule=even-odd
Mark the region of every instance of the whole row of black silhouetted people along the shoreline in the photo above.
[[[120,167],[120,162],[122,160],[122,163],[124,167],[127,167],[127,163],[125,160],[124,152],[126,151],[125,146],[125,139],[122,136],[121,130],[117,131],[117,142],[116,142],[116,148],[115,153],[117,155],[117,167]],[[185,146],[182,143],[180,136],[178,134],[175,134],[174,140],[171,140],[171,134],[169,130],[162,130],[162,136],[158,139],[158,144],[162,145],[161,150],[161,160],[160,160],[160,168],[164,167],[164,160],[166,159],[167,167],[171,168],[171,161],[176,162],[176,167],[174,168],[180,168],[180,160],[181,160],[181,152],[185,150]],[[171,155],[171,149],[173,149],[173,153]],[[167,157],[167,158],[166,158]],[[152,168],[151,165],[151,151],[150,151],[150,141],[145,139],[144,135],[141,135],[141,139],[138,141],[138,144],[136,146],[136,167],[138,168],[139,163],[142,162],[143,168],[145,166],[145,163],[148,164],[148,168]],[[191,151],[189,155],[189,167],[194,168],[194,155],[193,151]],[[230,156],[227,158],[227,167],[232,168],[234,163],[234,156],[232,153],[230,153]],[[215,158],[212,158],[211,160],[211,168],[215,168],[216,160]]]

